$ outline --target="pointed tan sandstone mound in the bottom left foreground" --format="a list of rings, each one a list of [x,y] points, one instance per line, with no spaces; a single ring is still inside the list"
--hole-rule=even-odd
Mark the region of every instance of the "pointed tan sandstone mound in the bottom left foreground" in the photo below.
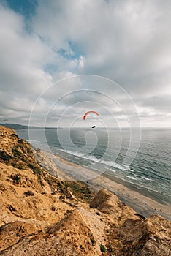
[[[1,255],[95,255],[93,234],[80,212],[75,210],[42,236],[23,238]]]

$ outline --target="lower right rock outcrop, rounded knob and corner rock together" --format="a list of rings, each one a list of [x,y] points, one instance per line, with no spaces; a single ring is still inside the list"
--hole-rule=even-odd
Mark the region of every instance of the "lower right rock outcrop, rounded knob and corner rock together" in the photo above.
[[[145,219],[106,189],[99,191],[90,206],[110,216],[106,245],[110,255],[170,255],[171,222],[167,219],[158,215]]]

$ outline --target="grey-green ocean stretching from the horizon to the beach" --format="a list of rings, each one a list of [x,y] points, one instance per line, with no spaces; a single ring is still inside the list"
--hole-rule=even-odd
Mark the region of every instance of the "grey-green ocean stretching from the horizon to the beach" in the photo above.
[[[170,129],[142,129],[139,148],[129,148],[129,129],[58,128],[17,132],[35,148],[117,178],[121,184],[159,203],[171,204]],[[129,164],[126,164],[128,151]]]

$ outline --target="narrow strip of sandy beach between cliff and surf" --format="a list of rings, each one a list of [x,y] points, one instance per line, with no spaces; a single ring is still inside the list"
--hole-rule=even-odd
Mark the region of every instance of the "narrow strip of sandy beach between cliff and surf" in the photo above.
[[[88,167],[82,167],[47,151],[41,150],[37,152],[34,149],[34,154],[39,164],[53,176],[58,176],[62,180],[83,181],[94,192],[99,192],[100,189],[107,189],[117,195],[123,203],[132,207],[134,211],[137,211],[138,214],[144,217],[149,217],[151,214],[159,214],[171,220],[170,205],[159,203],[151,197],[126,187],[117,178],[107,173],[99,173],[96,170],[88,169]]]

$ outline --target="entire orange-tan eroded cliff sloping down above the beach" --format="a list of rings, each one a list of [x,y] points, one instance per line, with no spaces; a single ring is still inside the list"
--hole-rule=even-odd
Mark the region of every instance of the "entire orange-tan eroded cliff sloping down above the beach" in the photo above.
[[[51,176],[33,151],[0,127],[0,255],[171,255],[170,221]]]

